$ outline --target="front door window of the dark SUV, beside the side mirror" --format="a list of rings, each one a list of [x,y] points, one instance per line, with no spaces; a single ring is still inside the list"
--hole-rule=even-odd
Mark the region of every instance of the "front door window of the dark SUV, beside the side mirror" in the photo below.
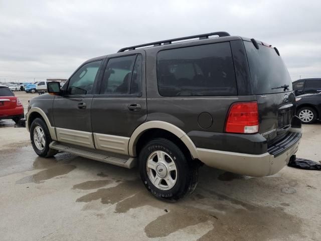
[[[82,66],[69,80],[69,94],[91,94],[101,60]]]

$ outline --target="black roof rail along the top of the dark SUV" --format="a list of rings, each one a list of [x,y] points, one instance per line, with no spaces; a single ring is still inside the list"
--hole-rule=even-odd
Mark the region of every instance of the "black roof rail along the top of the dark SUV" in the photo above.
[[[118,50],[117,53],[124,52],[126,50],[134,50],[136,48],[146,47],[146,46],[151,46],[151,45],[160,46],[160,45],[172,44],[172,42],[180,41],[180,40],[188,40],[188,39],[196,39],[196,38],[199,38],[200,40],[201,39],[208,39],[209,36],[213,36],[213,35],[218,35],[219,37],[230,36],[230,34],[227,33],[227,32],[214,32],[214,33],[208,33],[208,34],[199,34],[199,35],[193,35],[193,36],[188,36],[188,37],[182,37],[182,38],[176,38],[176,39],[168,39],[168,40],[157,41],[157,42],[152,42],[152,43],[147,43],[147,44],[140,44],[140,45],[130,46],[130,47],[126,47],[126,48],[122,48],[122,49]]]

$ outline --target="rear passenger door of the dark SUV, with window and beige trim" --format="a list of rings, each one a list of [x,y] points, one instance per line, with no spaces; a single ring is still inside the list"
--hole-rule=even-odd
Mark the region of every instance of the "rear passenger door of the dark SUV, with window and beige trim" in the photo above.
[[[130,53],[108,59],[91,108],[95,147],[125,155],[131,134],[147,116],[145,52]]]

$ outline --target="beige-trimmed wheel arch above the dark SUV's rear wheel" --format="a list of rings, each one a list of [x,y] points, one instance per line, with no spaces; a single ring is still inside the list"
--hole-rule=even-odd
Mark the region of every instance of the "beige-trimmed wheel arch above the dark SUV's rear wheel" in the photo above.
[[[180,140],[180,142],[184,144],[184,147],[190,152],[190,154],[192,155],[192,158],[198,159],[196,146],[194,145],[192,140],[187,136],[187,134],[177,126],[171,123],[162,122],[162,121],[145,122],[135,129],[128,143],[129,156],[132,156],[132,157],[137,156],[137,144],[139,144],[139,142],[141,142],[142,139],[145,139],[146,135],[149,136],[148,134],[150,133],[159,134],[161,132],[163,135],[168,134],[172,136],[172,138],[176,137],[177,140]]]

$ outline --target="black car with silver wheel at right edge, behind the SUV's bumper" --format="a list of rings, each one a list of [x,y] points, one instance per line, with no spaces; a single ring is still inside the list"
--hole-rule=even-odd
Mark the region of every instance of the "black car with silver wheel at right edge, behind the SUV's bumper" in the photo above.
[[[296,115],[303,124],[312,124],[321,118],[321,92],[316,94],[303,94],[295,98]]]

